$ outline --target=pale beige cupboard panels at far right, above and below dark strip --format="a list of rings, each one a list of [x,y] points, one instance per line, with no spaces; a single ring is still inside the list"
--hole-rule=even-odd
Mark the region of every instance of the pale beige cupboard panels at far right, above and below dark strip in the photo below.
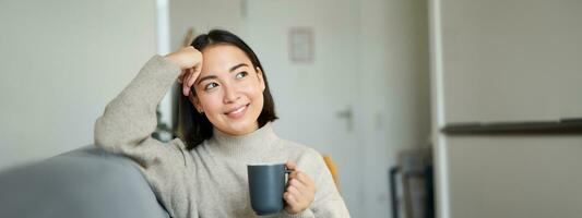
[[[439,217],[580,217],[581,136],[444,136],[439,129],[581,117],[582,2],[432,5]]]

